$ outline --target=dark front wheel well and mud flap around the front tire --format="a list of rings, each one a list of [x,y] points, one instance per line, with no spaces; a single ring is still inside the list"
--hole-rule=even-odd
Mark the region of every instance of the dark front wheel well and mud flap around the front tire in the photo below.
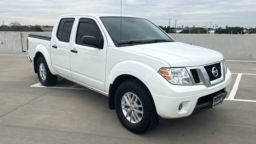
[[[116,89],[118,88],[118,86],[120,84],[122,84],[122,82],[125,82],[127,80],[131,80],[131,79],[138,80],[142,84],[144,84],[140,79],[136,78],[135,76],[129,75],[129,74],[122,74],[122,75],[118,76],[114,80],[114,82],[112,84],[110,84],[109,90],[108,90],[108,107],[110,108],[110,110],[115,109],[114,98],[115,98],[115,93],[116,93]]]

